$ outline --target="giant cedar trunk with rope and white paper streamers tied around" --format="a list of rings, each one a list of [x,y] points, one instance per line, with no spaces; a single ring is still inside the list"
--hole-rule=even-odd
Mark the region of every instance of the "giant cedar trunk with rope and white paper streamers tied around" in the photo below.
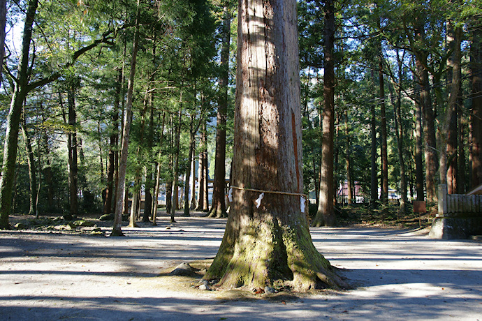
[[[205,274],[226,288],[276,283],[308,290],[321,283],[344,285],[314,248],[300,211],[296,25],[294,0],[239,3],[233,203],[223,241]]]

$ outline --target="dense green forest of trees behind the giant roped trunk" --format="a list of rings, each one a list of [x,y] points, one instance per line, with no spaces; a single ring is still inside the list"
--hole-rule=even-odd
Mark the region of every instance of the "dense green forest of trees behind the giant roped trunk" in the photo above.
[[[401,212],[482,184],[481,0],[297,3],[314,225],[337,223],[345,182],[349,204],[392,188]],[[122,234],[122,214],[155,223],[159,193],[172,221],[226,217],[237,17],[232,0],[0,1],[0,228],[102,213]]]

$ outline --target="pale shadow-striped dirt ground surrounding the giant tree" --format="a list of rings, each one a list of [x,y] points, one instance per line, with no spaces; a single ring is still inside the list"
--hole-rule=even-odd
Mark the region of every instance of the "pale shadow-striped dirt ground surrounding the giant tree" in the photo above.
[[[312,229],[349,292],[229,300],[159,277],[216,255],[226,221],[197,215],[124,238],[0,231],[0,320],[482,320],[482,244],[423,232]]]

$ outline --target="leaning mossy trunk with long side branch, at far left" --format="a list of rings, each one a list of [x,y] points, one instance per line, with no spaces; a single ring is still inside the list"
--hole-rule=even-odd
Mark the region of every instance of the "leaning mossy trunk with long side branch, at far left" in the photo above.
[[[37,11],[38,0],[29,0],[25,15],[22,38],[22,53],[18,64],[17,82],[13,88],[10,110],[7,116],[6,133],[3,145],[3,163],[0,177],[0,229],[10,228],[8,216],[12,211],[13,177],[17,159],[18,131],[22,105],[27,96],[29,51],[32,36],[32,26]]]

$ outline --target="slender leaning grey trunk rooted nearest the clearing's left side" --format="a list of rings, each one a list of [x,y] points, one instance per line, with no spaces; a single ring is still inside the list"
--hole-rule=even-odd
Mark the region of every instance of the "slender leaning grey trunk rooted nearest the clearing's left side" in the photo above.
[[[129,149],[129,133],[131,130],[132,121],[132,102],[133,102],[133,87],[134,76],[136,75],[136,58],[139,44],[139,14],[140,14],[140,0],[137,1],[136,13],[136,31],[134,32],[134,41],[131,56],[131,70],[129,72],[129,82],[127,83],[127,101],[124,112],[124,128],[122,133],[122,148],[119,160],[119,184],[116,191],[116,206],[114,216],[114,226],[112,227],[111,236],[124,236],[122,233],[122,210],[124,203],[127,201],[125,195],[126,188],[126,168],[127,168],[127,154]],[[132,223],[132,222],[131,222]]]

